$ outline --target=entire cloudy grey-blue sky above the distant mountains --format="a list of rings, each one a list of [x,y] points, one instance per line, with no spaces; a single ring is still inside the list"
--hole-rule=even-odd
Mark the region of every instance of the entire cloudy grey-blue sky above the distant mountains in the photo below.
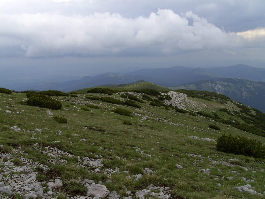
[[[0,1],[2,82],[175,65],[265,67],[264,54],[264,0]]]

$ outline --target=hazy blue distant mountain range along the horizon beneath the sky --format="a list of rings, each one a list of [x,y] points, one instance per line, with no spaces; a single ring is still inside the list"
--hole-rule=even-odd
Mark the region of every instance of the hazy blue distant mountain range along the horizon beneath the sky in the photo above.
[[[137,70],[126,74],[104,73],[95,77],[86,76],[79,80],[64,83],[51,83],[43,86],[32,86],[29,89],[72,91],[103,84],[128,84],[145,80],[165,87],[179,86],[193,81],[227,78],[244,78],[254,81],[265,81],[265,69],[244,64],[216,68],[191,68],[173,66],[170,68],[154,68]]]

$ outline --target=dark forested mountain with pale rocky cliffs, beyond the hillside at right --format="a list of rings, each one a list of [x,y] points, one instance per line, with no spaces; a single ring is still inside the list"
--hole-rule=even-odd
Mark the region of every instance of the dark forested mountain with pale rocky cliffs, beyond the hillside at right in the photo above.
[[[237,78],[196,81],[170,89],[203,90],[223,94],[235,101],[265,112],[265,82]]]

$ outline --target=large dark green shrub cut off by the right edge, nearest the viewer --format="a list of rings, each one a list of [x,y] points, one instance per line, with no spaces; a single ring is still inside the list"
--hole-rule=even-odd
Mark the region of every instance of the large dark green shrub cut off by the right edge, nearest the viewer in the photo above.
[[[222,135],[217,140],[218,151],[240,155],[248,155],[254,158],[265,158],[265,146],[262,142],[247,139],[243,136],[234,137]]]

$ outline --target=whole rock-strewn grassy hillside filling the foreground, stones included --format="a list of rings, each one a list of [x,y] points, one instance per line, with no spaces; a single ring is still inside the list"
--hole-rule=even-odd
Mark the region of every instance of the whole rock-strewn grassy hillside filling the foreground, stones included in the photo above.
[[[51,96],[61,102],[59,110],[28,106],[25,93],[0,93],[0,182],[11,185],[13,198],[34,191],[15,188],[20,181],[26,186],[25,176],[30,174],[36,179],[29,183],[41,183],[40,198],[48,196],[51,182],[58,180],[62,186],[52,188],[51,197],[86,196],[93,180],[120,198],[137,198],[145,188],[154,193],[148,192],[146,198],[158,197],[159,188],[164,191],[160,197],[170,198],[263,198],[234,187],[250,184],[263,193],[264,159],[220,152],[215,142],[225,133],[264,144],[263,115],[258,110],[195,91],[187,91],[190,97],[183,113],[170,105],[151,106],[164,98],[143,93],[135,93],[144,101],[134,101],[141,105],[137,108],[127,106],[122,93],[87,90],[77,92],[77,97]],[[102,100],[107,97],[124,103]]]

